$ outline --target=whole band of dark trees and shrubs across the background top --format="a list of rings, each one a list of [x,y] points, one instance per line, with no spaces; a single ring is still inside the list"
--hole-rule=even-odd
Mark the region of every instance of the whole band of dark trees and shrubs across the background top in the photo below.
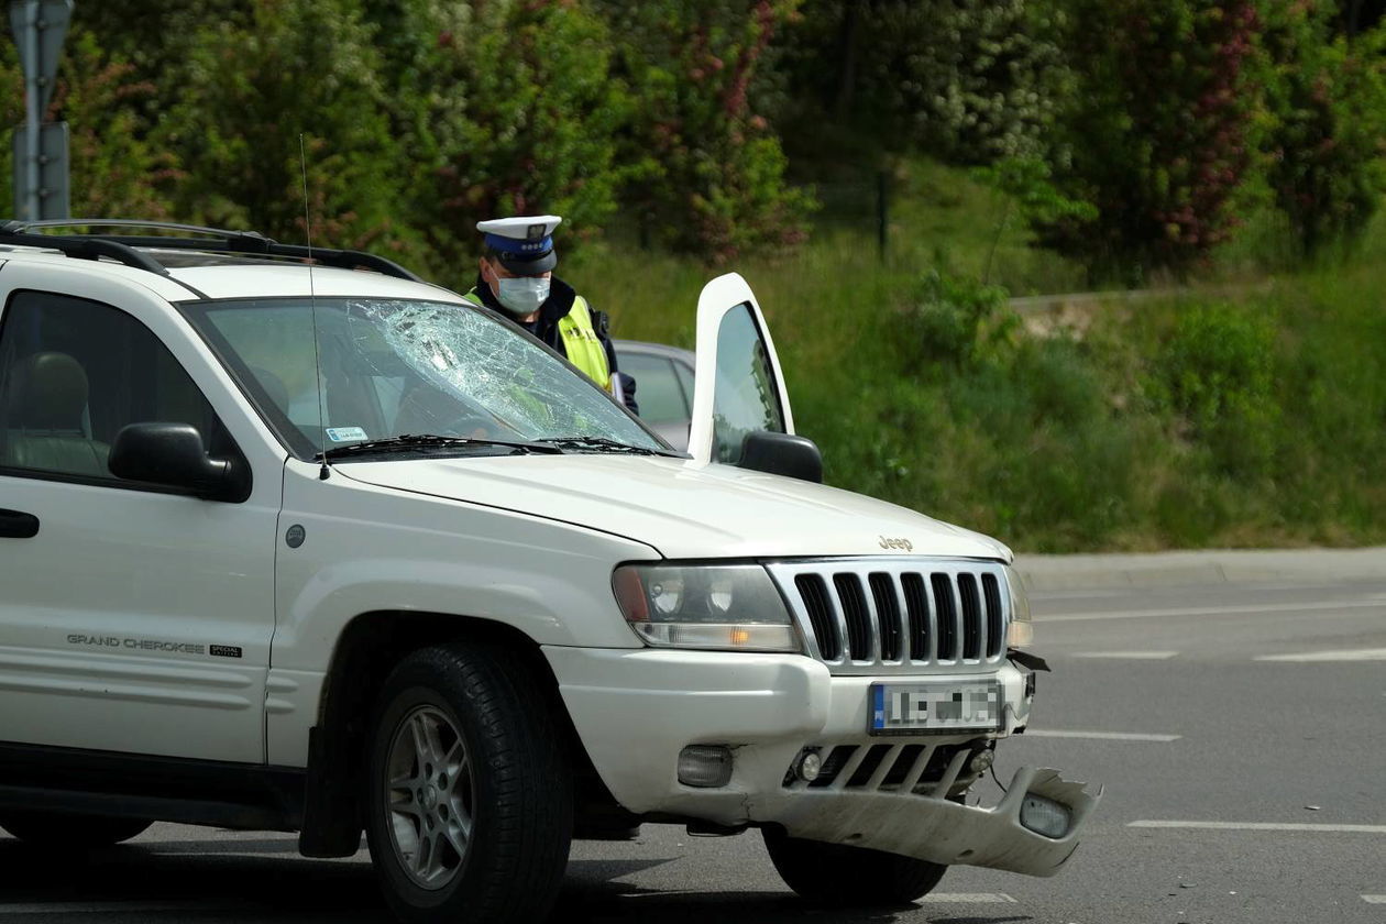
[[[1263,201],[1306,255],[1361,236],[1386,190],[1383,10],[83,1],[50,115],[72,129],[75,211],[290,240],[302,134],[319,240],[452,284],[474,223],[507,212],[563,215],[568,247],[624,223],[714,263],[776,252],[815,208],[791,176],[897,154],[980,166],[1005,198],[998,236],[1019,215],[1037,245],[1137,281],[1196,269]],[[8,43],[0,86],[19,122]]]

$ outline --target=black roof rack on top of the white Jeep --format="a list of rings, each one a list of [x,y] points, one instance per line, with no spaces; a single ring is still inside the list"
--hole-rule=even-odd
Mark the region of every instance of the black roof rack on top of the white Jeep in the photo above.
[[[47,227],[123,227],[123,229],[157,229],[162,231],[187,231],[207,237],[164,237],[164,236],[123,236],[123,234],[35,234],[35,229]],[[44,247],[60,251],[68,256],[94,260],[103,256],[114,259],[126,266],[133,266],[151,273],[168,276],[168,267],[159,265],[148,254],[134,248],[158,248],[179,251],[207,251],[209,254],[243,254],[251,256],[284,256],[292,259],[309,259],[323,266],[340,269],[367,269],[384,276],[423,283],[424,280],[410,273],[399,263],[366,254],[363,251],[338,251],[322,247],[302,247],[298,244],[280,244],[265,237],[259,231],[230,231],[226,229],[202,227],[200,224],[177,224],[173,222],[141,222],[126,219],[57,219],[46,222],[0,222],[0,244],[21,244],[25,247]]]

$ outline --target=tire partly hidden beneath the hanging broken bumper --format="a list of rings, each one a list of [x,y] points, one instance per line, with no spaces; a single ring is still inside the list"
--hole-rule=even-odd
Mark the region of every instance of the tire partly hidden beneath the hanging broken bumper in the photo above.
[[[933,891],[948,867],[900,853],[825,844],[764,828],[765,849],[784,884],[816,905],[898,907]]]

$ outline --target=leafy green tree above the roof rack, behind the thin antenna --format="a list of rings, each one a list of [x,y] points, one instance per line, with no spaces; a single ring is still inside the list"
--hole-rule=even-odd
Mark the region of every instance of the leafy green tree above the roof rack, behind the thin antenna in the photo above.
[[[182,215],[301,240],[306,161],[320,241],[398,242],[401,154],[378,71],[370,29],[346,0],[254,0],[247,26],[205,25],[158,136],[188,170]]]

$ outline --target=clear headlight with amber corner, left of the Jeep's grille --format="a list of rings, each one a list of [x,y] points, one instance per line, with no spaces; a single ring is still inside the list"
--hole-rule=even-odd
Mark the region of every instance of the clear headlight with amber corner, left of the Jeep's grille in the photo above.
[[[617,604],[646,644],[726,651],[802,651],[761,565],[622,565]]]

